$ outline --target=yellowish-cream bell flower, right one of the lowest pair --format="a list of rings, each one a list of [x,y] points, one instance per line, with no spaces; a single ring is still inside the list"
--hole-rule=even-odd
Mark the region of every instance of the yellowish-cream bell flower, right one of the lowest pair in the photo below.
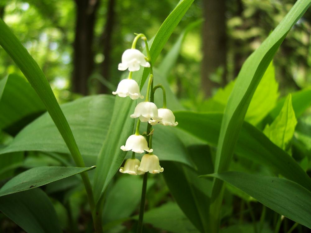
[[[140,166],[136,165],[140,172],[149,172],[152,174],[163,172],[163,167],[160,166],[159,158],[156,155],[145,154],[142,156]]]

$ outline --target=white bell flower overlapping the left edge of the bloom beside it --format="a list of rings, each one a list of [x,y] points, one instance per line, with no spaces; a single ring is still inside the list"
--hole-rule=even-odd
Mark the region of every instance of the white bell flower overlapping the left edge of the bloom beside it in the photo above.
[[[158,108],[157,106],[152,102],[140,102],[135,110],[134,113],[131,115],[132,118],[137,118],[142,122],[153,120],[161,120],[162,118],[158,116]]]

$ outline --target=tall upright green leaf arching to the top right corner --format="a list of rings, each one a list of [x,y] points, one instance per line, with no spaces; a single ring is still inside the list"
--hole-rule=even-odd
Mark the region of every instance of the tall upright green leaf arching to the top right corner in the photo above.
[[[243,64],[221,123],[215,160],[216,173],[229,168],[234,147],[254,92],[285,36],[310,4],[310,0],[298,0],[275,30]],[[223,181],[214,179],[210,206],[210,213],[213,213],[213,216],[210,215],[211,232],[219,231],[222,197]]]

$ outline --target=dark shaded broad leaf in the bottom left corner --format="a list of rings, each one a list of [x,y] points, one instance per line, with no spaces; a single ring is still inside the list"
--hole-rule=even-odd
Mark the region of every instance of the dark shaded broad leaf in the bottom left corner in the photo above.
[[[53,205],[41,189],[0,197],[0,211],[26,232],[62,232]]]

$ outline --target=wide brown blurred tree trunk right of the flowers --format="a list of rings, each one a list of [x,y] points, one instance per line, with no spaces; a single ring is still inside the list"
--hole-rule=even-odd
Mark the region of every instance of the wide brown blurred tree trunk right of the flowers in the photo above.
[[[219,85],[210,77],[219,67],[224,69],[221,84],[226,84],[225,0],[203,0],[203,16],[202,87],[205,95],[211,96],[212,89]]]

